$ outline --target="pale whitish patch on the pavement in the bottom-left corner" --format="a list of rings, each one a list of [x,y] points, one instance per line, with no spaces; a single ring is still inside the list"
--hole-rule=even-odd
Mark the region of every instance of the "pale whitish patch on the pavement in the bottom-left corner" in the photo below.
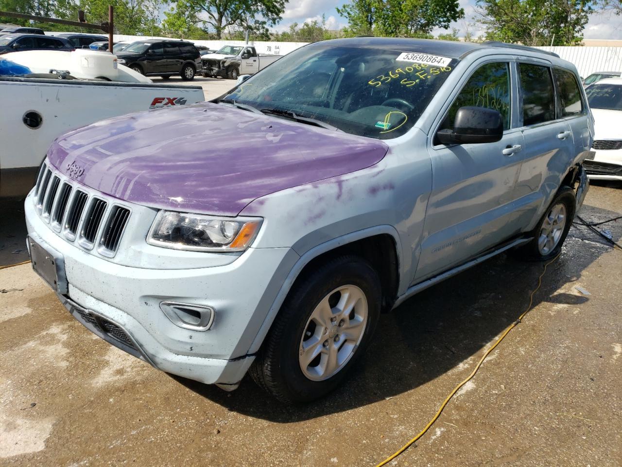
[[[53,424],[53,418],[29,420],[0,415],[0,458],[44,450]]]

